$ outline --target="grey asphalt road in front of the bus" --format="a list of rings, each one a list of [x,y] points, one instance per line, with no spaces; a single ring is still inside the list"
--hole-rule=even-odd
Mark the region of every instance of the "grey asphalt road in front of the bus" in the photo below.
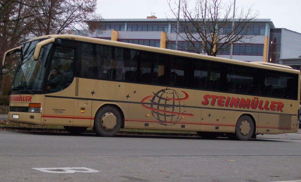
[[[300,144],[0,131],[0,181],[301,180]]]

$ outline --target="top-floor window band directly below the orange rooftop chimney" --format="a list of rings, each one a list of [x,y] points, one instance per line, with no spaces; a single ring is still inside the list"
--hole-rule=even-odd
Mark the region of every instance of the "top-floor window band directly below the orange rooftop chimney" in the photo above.
[[[168,25],[160,25],[160,24],[128,24],[126,31],[168,32]]]

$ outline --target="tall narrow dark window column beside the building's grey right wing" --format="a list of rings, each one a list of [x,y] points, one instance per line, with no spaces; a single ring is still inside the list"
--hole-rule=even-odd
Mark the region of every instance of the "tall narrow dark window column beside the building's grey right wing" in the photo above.
[[[268,62],[279,64],[281,47],[281,29],[270,29],[270,39],[268,47]]]

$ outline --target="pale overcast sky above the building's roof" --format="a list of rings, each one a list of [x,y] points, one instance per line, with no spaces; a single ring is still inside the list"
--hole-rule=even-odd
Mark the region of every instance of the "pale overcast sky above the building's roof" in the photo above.
[[[178,0],[171,0],[172,2]],[[207,0],[209,1],[209,0]],[[222,0],[223,3],[234,0]],[[171,15],[167,0],[97,0],[97,13],[105,19],[146,18],[156,13],[157,18]],[[194,0],[190,0],[194,5]],[[301,0],[236,0],[235,7],[250,7],[259,12],[258,18],[271,19],[275,28],[286,28],[301,33]]]

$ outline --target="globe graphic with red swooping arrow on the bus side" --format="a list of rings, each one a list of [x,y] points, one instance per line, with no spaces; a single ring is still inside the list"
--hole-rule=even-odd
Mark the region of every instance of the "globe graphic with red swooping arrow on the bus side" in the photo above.
[[[175,125],[181,121],[183,116],[194,116],[193,114],[185,113],[185,102],[188,99],[188,94],[184,91],[179,93],[173,89],[165,88],[152,96],[145,97],[142,104],[145,108],[151,110],[152,116],[161,125]]]

